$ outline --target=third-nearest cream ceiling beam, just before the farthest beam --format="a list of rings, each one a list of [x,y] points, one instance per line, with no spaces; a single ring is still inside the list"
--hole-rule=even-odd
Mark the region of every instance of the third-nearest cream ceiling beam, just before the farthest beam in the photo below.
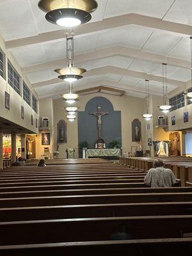
[[[106,75],[106,74],[116,74],[116,75],[120,75],[120,76],[131,76],[131,77],[137,77],[140,79],[148,79],[150,81],[157,81],[159,83],[162,82],[161,76],[154,76],[154,75],[146,74],[143,72],[127,70],[125,68],[118,68],[118,67],[111,67],[111,66],[88,70],[86,73],[83,74],[83,77],[91,77],[91,76]],[[42,81],[39,83],[33,83],[31,85],[32,85],[32,88],[38,88],[38,87],[43,87],[43,86],[48,86],[51,84],[58,84],[58,83],[63,83],[63,81],[59,78],[55,78],[55,79],[51,79],[51,80],[47,80],[47,81]],[[173,79],[167,79],[167,83],[173,84],[178,87],[186,86],[185,82],[177,81],[177,80],[173,80]]]

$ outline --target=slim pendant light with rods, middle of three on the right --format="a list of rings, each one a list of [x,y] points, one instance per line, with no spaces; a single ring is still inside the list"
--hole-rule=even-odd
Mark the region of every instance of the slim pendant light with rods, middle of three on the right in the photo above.
[[[166,71],[167,64],[162,63],[162,68],[163,68],[163,77],[162,77],[162,82],[163,82],[163,105],[159,106],[160,111],[163,113],[168,113],[172,106],[168,105],[168,92],[167,92],[167,71]]]

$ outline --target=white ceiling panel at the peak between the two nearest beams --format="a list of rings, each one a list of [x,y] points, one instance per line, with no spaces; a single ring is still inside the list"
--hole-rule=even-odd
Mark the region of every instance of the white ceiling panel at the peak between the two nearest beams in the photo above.
[[[139,26],[124,26],[118,29],[108,29],[99,34],[97,49],[118,45],[141,49],[151,33],[151,29],[141,28]]]

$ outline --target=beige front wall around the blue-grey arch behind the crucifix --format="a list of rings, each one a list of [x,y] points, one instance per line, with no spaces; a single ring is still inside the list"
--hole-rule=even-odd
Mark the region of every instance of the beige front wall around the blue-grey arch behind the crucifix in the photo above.
[[[85,95],[80,97],[77,102],[79,111],[84,111],[86,103],[93,97],[106,97],[113,104],[115,111],[121,111],[122,115],[122,147],[124,152],[131,152],[131,146],[138,147],[140,150],[140,143],[132,142],[131,122],[134,118],[138,118],[142,123],[142,142],[145,145],[145,123],[143,122],[142,114],[144,107],[144,100],[129,97],[124,95],[122,97],[108,95],[104,93],[95,93],[93,95]],[[75,122],[68,122],[66,112],[63,108],[67,107],[66,102],[62,99],[54,100],[54,130],[56,131],[56,124],[63,119],[67,122],[67,143],[60,144],[59,157],[66,157],[66,148],[72,147],[76,150],[76,157],[78,156],[78,129],[77,120]],[[54,132],[54,149],[56,149],[56,132]]]

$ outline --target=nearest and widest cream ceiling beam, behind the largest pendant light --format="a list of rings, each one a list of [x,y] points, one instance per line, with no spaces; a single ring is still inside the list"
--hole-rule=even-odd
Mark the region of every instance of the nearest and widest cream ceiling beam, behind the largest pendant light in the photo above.
[[[160,29],[168,31],[170,33],[176,33],[182,36],[192,35],[192,26],[170,22],[166,20],[157,19],[154,17],[148,17],[135,13],[129,13],[126,15],[120,15],[111,17],[97,22],[84,24],[76,28],[76,36],[88,36],[106,29],[114,29],[127,25],[138,25],[142,27],[154,29]],[[16,40],[10,40],[6,42],[6,49],[18,49],[20,47],[29,45],[42,45],[51,44],[52,42],[61,41],[65,38],[65,30],[60,29],[57,31],[51,31],[46,33],[40,33],[36,36],[29,36],[26,38],[19,38]]]

